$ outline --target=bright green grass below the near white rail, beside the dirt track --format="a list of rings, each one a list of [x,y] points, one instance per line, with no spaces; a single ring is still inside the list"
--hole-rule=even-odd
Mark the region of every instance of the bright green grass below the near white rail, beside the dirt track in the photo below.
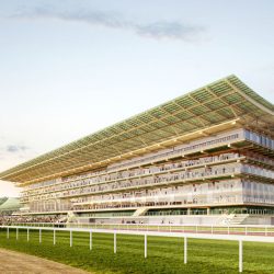
[[[144,237],[117,235],[117,253],[113,253],[113,235],[93,233],[93,249],[89,249],[89,233],[73,232],[73,247],[69,247],[69,232],[43,231],[42,243],[38,231],[31,230],[30,242],[26,230],[0,231],[0,248],[11,249],[53,261],[80,267],[92,273],[238,273],[238,242],[189,239],[187,264],[183,263],[183,239],[148,237],[148,258],[144,258]],[[274,273],[274,244],[243,243],[244,273]]]

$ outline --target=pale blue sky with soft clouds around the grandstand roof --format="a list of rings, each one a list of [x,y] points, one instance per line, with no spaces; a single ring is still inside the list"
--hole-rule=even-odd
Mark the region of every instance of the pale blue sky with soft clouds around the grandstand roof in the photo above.
[[[274,102],[272,0],[0,0],[0,171],[229,75]],[[0,196],[19,190],[0,181]]]

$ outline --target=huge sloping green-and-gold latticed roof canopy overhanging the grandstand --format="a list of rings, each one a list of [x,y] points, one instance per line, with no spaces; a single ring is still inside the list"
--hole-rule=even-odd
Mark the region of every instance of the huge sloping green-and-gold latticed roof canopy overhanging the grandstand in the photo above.
[[[0,179],[31,183],[105,167],[231,121],[272,135],[274,105],[229,76],[19,164]]]

